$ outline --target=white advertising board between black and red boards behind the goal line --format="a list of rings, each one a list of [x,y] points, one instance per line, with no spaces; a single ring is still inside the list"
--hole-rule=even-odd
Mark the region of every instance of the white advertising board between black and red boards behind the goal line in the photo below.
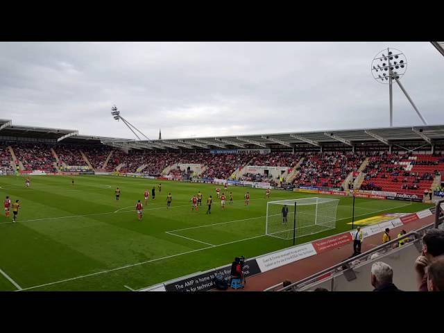
[[[271,255],[264,255],[262,257],[256,258],[256,262],[262,272],[270,271],[273,268],[278,268],[290,264],[291,262],[296,262],[300,259],[311,257],[316,255],[316,250],[312,244],[305,244],[301,246],[296,246],[294,248],[289,248],[287,250],[282,250],[277,253],[272,253]]]

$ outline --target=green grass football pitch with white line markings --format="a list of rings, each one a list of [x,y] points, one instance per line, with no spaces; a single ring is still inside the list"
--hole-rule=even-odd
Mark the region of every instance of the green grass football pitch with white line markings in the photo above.
[[[74,187],[71,180],[74,179]],[[162,183],[159,193],[157,185]],[[114,190],[121,189],[120,200]],[[155,200],[151,189],[155,187]],[[117,176],[0,177],[0,196],[21,205],[0,216],[0,291],[128,291],[183,275],[230,264],[234,257],[255,257],[292,246],[292,240],[265,235],[264,189],[228,187],[225,210],[216,199],[223,185]],[[135,205],[150,191],[142,221]],[[198,212],[191,196],[203,194]],[[250,192],[250,205],[244,194]],[[173,202],[167,210],[167,194]],[[225,194],[227,194],[225,192]],[[205,214],[208,196],[212,214]],[[321,196],[271,190],[269,200]],[[329,196],[323,196],[329,197]],[[302,244],[350,230],[352,198],[340,198],[336,229],[297,239]],[[355,221],[383,213],[417,212],[430,205],[356,198]]]

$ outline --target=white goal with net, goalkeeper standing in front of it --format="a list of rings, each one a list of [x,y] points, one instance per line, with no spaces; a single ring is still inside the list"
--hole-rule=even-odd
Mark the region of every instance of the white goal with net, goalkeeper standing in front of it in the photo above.
[[[339,199],[303,198],[269,201],[266,206],[266,235],[293,239],[336,228]],[[296,225],[296,230],[295,230]]]

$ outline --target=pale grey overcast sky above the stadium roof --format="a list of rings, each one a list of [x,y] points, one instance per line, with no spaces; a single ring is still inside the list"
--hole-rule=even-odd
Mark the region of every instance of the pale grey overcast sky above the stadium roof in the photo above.
[[[388,85],[370,64],[407,56],[402,84],[444,123],[444,57],[429,42],[0,42],[0,118],[150,139],[388,126]],[[395,126],[420,124],[393,86]]]

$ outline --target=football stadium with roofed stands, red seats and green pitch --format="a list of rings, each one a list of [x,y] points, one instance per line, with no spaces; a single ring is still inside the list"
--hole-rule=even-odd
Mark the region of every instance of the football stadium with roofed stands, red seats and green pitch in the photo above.
[[[0,119],[1,291],[370,291],[375,262],[416,290],[444,125],[141,139],[117,110],[137,139]]]

